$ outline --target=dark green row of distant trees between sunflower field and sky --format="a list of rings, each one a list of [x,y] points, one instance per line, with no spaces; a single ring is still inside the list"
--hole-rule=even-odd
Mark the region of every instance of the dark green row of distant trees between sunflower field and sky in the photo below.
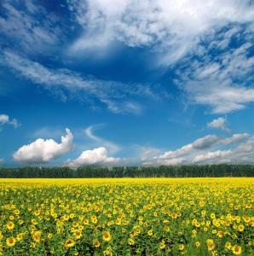
[[[0,168],[0,177],[254,177],[254,165]]]

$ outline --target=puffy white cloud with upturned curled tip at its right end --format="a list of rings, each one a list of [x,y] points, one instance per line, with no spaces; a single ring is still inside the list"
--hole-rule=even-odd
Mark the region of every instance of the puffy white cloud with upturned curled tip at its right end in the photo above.
[[[72,132],[66,129],[66,136],[61,137],[61,143],[53,139],[38,138],[35,142],[24,145],[13,155],[14,160],[21,164],[44,164],[55,160],[73,148]]]

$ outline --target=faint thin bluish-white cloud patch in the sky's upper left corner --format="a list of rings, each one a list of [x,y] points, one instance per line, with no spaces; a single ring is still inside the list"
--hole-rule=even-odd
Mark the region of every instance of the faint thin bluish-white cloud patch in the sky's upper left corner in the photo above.
[[[0,34],[5,39],[14,40],[15,47],[28,55],[50,52],[64,38],[56,16],[38,3],[26,0],[26,4],[21,5],[3,0],[1,9],[4,15],[0,16]]]

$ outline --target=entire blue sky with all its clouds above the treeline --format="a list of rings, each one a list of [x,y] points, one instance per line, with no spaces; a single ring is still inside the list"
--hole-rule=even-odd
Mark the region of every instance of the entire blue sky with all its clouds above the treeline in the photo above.
[[[254,163],[253,1],[0,3],[0,165]]]

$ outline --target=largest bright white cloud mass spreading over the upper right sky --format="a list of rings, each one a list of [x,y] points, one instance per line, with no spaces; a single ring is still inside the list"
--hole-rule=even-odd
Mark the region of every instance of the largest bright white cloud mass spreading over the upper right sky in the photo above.
[[[157,65],[177,65],[174,82],[189,102],[208,106],[212,113],[254,102],[251,1],[71,0],[69,9],[84,29],[72,44],[74,53],[114,42],[146,47]],[[103,44],[94,44],[100,42],[96,38]]]

